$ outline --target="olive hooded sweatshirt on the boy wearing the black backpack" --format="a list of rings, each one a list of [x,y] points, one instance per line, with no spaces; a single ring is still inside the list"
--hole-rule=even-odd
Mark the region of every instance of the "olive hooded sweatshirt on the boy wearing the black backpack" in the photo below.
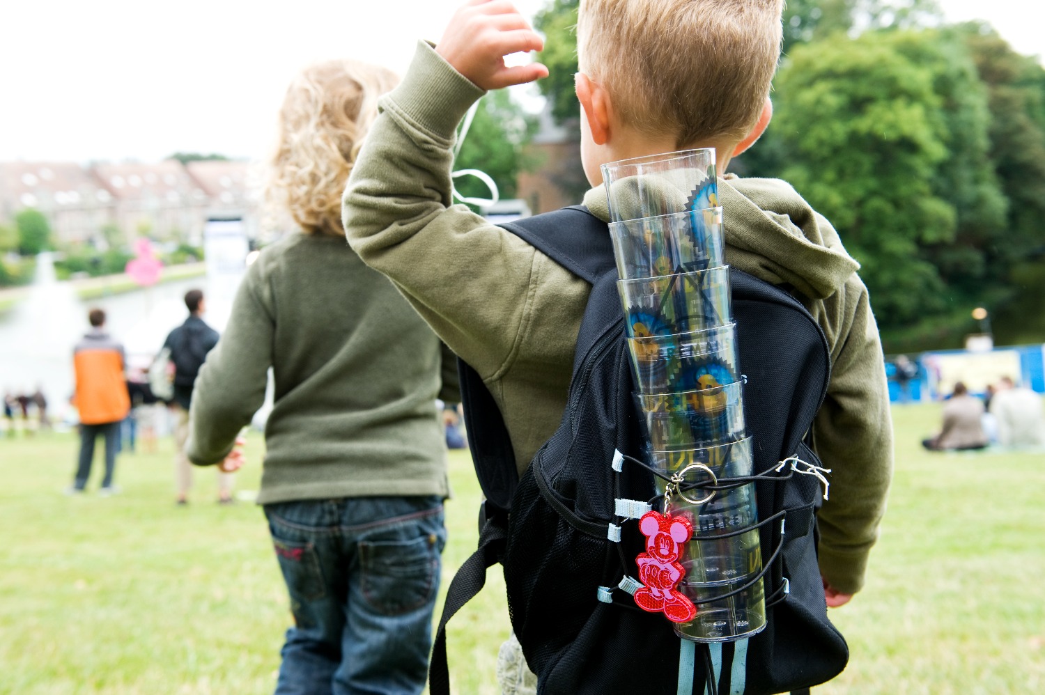
[[[451,205],[456,128],[483,92],[427,44],[380,101],[344,199],[349,244],[389,276],[483,377],[522,470],[566,404],[590,286],[514,234]],[[833,469],[819,515],[820,570],[838,590],[863,582],[891,474],[892,435],[878,328],[858,264],[786,183],[719,180],[726,260],[790,283],[823,329],[832,378],[814,445]],[[584,203],[607,219],[602,187]],[[568,230],[563,230],[568,233]],[[787,337],[781,337],[786,349]]]

